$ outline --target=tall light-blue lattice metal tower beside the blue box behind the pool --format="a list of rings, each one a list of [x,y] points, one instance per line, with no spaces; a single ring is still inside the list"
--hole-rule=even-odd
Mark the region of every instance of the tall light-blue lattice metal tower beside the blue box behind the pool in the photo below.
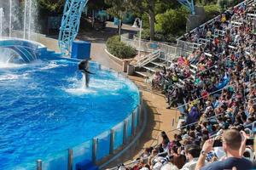
[[[72,42],[79,33],[81,14],[88,1],[66,1],[59,33],[59,48],[62,54],[70,54]]]

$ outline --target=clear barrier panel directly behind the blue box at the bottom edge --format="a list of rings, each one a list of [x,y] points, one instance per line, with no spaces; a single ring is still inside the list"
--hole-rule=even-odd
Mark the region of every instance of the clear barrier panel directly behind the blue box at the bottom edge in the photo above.
[[[73,169],[76,164],[85,160],[92,161],[92,139],[73,147]]]

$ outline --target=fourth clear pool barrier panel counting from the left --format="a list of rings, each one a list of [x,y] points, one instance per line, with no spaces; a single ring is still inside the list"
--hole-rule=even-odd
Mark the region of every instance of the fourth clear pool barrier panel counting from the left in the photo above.
[[[113,131],[113,150],[116,150],[124,143],[124,122],[120,122],[118,125],[113,127]]]

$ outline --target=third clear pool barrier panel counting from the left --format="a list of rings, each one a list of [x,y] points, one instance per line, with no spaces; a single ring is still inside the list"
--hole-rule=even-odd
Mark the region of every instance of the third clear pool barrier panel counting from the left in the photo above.
[[[101,160],[103,157],[109,155],[110,149],[110,131],[106,131],[96,137],[97,149],[96,149],[96,161]]]

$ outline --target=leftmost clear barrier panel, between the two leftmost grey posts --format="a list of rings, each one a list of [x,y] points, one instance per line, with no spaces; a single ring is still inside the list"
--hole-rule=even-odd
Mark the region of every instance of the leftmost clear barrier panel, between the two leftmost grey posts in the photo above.
[[[42,162],[42,169],[44,170],[67,170],[68,164],[68,150],[63,150],[55,155],[49,156],[46,161]]]

